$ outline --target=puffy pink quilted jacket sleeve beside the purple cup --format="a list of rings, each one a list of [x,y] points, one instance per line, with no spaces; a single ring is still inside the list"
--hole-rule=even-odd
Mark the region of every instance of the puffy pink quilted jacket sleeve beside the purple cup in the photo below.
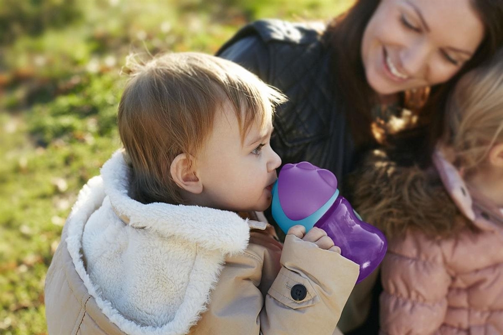
[[[381,264],[380,333],[438,333],[447,312],[451,277],[442,249],[411,237],[391,242]]]

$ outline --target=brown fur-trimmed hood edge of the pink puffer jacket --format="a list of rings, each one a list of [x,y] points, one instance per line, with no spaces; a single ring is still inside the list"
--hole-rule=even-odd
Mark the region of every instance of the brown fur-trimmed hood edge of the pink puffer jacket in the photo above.
[[[399,166],[384,151],[373,151],[350,176],[354,208],[387,237],[408,229],[434,238],[452,236],[466,228],[501,229],[496,225],[500,219],[497,213],[482,214],[480,203],[474,198],[472,203],[468,188],[467,196],[462,194],[464,183],[454,167],[438,155],[434,160],[435,167],[423,170]],[[465,197],[462,204],[458,201],[461,196]]]

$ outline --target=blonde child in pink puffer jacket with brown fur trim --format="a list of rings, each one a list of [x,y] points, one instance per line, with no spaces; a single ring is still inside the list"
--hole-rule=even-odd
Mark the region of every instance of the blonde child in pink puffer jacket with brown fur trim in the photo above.
[[[460,79],[444,124],[431,169],[379,153],[358,181],[388,237],[381,334],[503,334],[503,50]]]

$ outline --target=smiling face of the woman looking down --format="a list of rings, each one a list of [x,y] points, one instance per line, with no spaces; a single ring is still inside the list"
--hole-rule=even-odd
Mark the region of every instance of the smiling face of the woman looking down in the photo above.
[[[367,81],[383,95],[447,81],[483,37],[469,0],[382,0],[363,34]]]

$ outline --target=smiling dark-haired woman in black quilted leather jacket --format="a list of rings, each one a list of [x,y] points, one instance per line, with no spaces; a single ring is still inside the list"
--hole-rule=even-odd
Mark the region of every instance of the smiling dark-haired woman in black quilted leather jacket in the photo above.
[[[394,146],[403,164],[428,165],[450,88],[501,45],[500,0],[360,0],[326,27],[251,23],[217,54],[288,96],[271,139],[283,164],[309,161],[343,181],[379,145]],[[376,277],[353,291],[342,330],[367,317]]]

